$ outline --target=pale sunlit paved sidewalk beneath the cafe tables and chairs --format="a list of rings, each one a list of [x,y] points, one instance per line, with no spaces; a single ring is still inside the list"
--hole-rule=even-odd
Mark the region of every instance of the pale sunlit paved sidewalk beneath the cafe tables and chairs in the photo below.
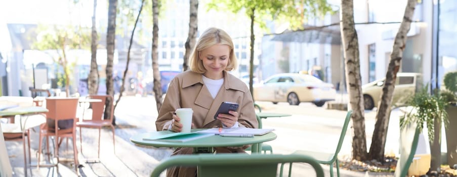
[[[86,112],[87,113],[87,112]],[[80,176],[149,176],[153,168],[173,152],[170,148],[152,148],[137,146],[130,142],[133,135],[155,131],[155,101],[153,97],[122,97],[119,106],[115,110],[116,132],[115,153],[112,147],[112,132],[110,129],[102,129],[100,143],[100,162],[93,163],[97,157],[98,130],[82,129],[82,149],[79,152],[78,168]],[[79,131],[79,129],[77,130]],[[38,127],[31,131],[32,162],[36,163],[36,150],[38,149]],[[79,132],[77,132],[77,149],[80,151]],[[10,161],[13,166],[14,176],[24,176],[22,142],[6,142]],[[312,142],[310,142],[312,143]],[[275,148],[275,147],[273,147]],[[46,148],[45,148],[46,149]],[[46,150],[45,150],[46,151]],[[50,150],[52,151],[52,150]],[[68,158],[70,163],[73,158],[71,143],[68,150],[65,141],[62,143],[59,155]],[[47,158],[45,156],[45,158]],[[85,159],[89,159],[89,163]],[[36,167],[29,168],[32,176],[76,176],[71,164],[59,165],[59,173],[56,168]],[[326,176],[329,176],[329,168],[322,165]],[[287,172],[285,169],[285,172]],[[334,169],[336,172],[336,169]],[[341,176],[366,176],[365,172],[340,170]],[[293,176],[312,176],[314,170],[305,164],[297,164],[293,167]],[[392,173],[373,173],[369,176],[392,176]],[[163,175],[164,176],[164,175]]]

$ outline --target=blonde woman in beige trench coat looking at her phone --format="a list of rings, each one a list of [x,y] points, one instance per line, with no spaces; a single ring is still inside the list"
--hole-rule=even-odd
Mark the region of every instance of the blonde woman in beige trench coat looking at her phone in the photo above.
[[[192,128],[257,128],[251,92],[246,84],[227,71],[237,61],[231,37],[223,30],[209,28],[198,39],[190,55],[190,70],[178,74],[171,82],[155,121],[157,130],[181,132],[178,108],[192,108]],[[237,111],[214,115],[222,102],[236,102]],[[244,147],[246,148],[246,147]],[[217,153],[243,153],[243,148],[216,148]],[[192,148],[177,148],[172,155],[191,154]],[[167,176],[195,176],[196,168],[174,167]]]

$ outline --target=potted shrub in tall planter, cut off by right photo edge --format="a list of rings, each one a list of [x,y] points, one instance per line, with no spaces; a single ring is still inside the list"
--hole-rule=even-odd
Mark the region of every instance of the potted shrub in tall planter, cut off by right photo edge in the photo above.
[[[446,112],[449,120],[449,126],[446,127],[447,164],[455,168],[457,167],[457,139],[453,136],[457,135],[457,71],[444,75],[444,86],[446,90],[441,95],[448,103]]]

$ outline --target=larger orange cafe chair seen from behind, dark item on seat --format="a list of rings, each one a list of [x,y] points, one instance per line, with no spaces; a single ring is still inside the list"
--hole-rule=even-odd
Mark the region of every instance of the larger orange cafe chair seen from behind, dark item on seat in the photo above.
[[[74,169],[77,173],[78,167],[78,152],[76,149],[76,109],[78,106],[78,98],[57,98],[50,97],[46,98],[46,108],[49,110],[47,113],[48,122],[40,125],[39,131],[39,145],[38,145],[38,163],[39,167],[40,154],[41,153],[41,140],[46,137],[54,136],[56,141],[56,147],[54,148],[54,154],[57,157],[59,163],[59,146],[62,143],[63,138],[73,139],[73,155],[74,155]],[[51,120],[51,121],[50,121]],[[73,120],[73,126],[64,127],[61,125],[63,120]],[[54,121],[54,122],[52,122]],[[49,152],[49,142],[48,142]],[[48,153],[49,154],[49,153]],[[49,156],[48,156],[49,158]]]

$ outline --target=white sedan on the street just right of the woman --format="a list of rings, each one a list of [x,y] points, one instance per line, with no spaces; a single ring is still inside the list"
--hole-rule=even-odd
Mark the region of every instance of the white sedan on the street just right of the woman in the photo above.
[[[299,105],[300,102],[311,102],[321,107],[336,97],[332,84],[299,73],[275,74],[253,87],[255,101],[269,101],[273,104],[288,102],[290,105]]]

